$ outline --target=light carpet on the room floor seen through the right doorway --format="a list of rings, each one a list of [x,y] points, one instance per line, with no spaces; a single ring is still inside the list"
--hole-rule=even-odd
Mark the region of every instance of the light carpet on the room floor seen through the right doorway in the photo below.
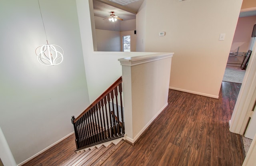
[[[224,77],[222,81],[232,83],[242,83],[244,79],[245,70],[241,70],[240,67],[226,66]]]

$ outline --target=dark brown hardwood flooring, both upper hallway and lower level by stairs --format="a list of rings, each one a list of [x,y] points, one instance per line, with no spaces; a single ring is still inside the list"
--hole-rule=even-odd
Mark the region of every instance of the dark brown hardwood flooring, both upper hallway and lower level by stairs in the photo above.
[[[240,135],[228,121],[241,84],[222,82],[219,99],[169,90],[168,106],[134,146],[122,143],[104,166],[241,166]],[[74,136],[24,166],[57,166],[74,155]]]

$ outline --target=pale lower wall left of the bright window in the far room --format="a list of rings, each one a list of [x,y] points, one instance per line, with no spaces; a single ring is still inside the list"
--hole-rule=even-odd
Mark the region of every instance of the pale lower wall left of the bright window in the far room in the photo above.
[[[119,31],[97,30],[97,50],[98,51],[121,51],[121,37]]]

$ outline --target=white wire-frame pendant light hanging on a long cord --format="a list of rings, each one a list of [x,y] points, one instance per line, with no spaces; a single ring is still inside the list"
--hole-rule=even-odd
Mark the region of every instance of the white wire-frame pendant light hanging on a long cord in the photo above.
[[[42,12],[38,0],[38,5],[40,9],[40,14],[44,26],[44,20],[42,17]],[[46,43],[44,45],[40,45],[36,48],[35,52],[37,55],[38,61],[43,65],[58,65],[63,61],[63,49],[58,45],[49,44],[47,40],[46,30],[44,26],[44,33],[46,36]]]

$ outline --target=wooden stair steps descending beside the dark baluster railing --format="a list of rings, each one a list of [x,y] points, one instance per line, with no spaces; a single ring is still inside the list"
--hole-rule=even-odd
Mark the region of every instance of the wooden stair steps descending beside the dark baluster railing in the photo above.
[[[108,146],[102,145],[99,148],[77,151],[72,158],[60,166],[101,166],[123,143],[124,140],[121,140],[116,145],[111,143]]]

